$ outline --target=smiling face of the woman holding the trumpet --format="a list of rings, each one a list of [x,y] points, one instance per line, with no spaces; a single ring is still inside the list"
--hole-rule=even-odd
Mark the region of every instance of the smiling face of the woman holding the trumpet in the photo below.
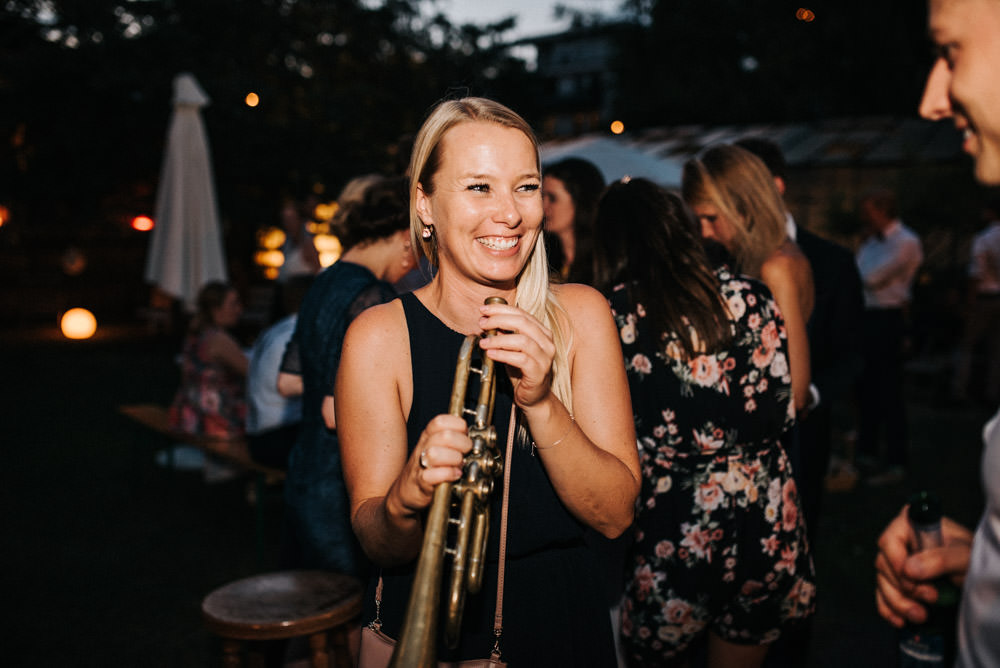
[[[417,213],[434,228],[442,275],[510,286],[542,225],[541,177],[534,144],[520,130],[470,121],[438,147],[434,192],[417,190]]]

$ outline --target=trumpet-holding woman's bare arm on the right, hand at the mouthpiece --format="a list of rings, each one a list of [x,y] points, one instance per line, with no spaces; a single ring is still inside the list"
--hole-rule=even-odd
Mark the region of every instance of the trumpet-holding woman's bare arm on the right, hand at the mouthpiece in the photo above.
[[[528,420],[556,493],[580,521],[609,538],[632,524],[639,458],[618,330],[607,301],[589,287],[559,289],[573,331],[569,355],[573,417],[552,393],[551,333],[509,306],[484,306],[490,357],[508,365],[514,399]],[[506,332],[513,332],[512,334]]]

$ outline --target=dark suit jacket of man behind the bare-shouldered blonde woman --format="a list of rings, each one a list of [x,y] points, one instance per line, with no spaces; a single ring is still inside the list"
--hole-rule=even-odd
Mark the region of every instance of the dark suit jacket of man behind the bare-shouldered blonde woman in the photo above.
[[[861,372],[861,276],[854,255],[839,244],[802,227],[796,243],[812,266],[816,305],[806,328],[812,382],[820,403],[829,406],[847,395]]]

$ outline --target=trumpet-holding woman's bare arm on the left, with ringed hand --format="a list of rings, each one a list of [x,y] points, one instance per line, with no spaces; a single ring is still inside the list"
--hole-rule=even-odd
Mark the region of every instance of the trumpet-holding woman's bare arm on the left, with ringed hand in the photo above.
[[[398,301],[368,309],[347,330],[334,391],[351,522],[365,552],[383,566],[417,557],[434,487],[461,476],[463,453],[472,447],[465,420],[439,415],[407,456],[409,349]]]

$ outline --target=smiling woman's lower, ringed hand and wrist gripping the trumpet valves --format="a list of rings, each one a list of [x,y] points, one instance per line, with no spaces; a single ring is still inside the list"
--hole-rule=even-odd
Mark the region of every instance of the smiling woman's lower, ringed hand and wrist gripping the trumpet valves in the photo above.
[[[438,415],[424,428],[386,499],[390,514],[413,517],[430,506],[434,488],[462,476],[462,458],[472,449],[465,420]]]

